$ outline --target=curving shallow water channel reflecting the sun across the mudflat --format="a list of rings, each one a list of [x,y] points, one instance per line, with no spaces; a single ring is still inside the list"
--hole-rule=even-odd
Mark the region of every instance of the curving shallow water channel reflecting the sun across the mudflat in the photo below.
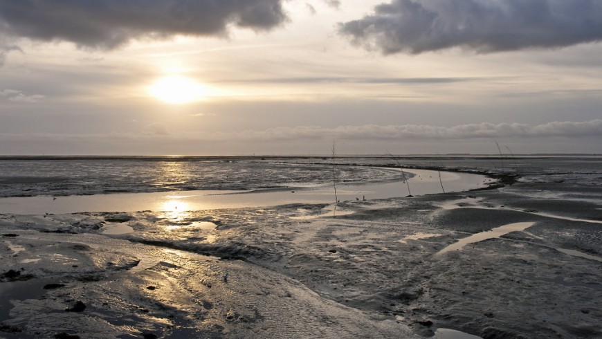
[[[389,169],[395,170],[395,169]],[[412,195],[441,193],[439,173],[430,170],[405,170]],[[491,179],[478,174],[441,172],[446,192],[461,192],[484,187]],[[401,181],[385,183],[338,183],[339,201],[387,199],[407,196],[408,186]],[[89,196],[31,196],[0,199],[3,214],[62,214],[76,212],[136,212],[141,210],[188,211],[221,208],[253,208],[289,203],[334,203],[333,185],[290,187],[278,190],[220,191],[196,190],[152,193],[115,193]]]

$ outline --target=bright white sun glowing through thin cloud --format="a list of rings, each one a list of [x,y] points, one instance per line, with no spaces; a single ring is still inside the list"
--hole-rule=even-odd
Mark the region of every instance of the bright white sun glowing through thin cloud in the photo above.
[[[200,82],[183,76],[165,76],[156,80],[149,93],[169,104],[186,104],[207,98],[208,89]]]

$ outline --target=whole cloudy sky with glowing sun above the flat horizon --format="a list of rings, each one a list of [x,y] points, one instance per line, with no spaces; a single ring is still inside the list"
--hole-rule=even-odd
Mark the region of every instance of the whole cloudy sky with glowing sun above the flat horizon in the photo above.
[[[602,154],[600,55],[602,0],[0,0],[0,155]]]

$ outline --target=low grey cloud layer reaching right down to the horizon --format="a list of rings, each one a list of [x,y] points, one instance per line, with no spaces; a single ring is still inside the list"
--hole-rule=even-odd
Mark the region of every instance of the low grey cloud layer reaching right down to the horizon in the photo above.
[[[137,131],[96,134],[0,133],[0,154],[322,154],[335,139],[341,154],[395,152],[496,152],[494,142],[510,145],[517,154],[601,154],[602,120],[549,122],[542,125],[469,124],[361,125],[273,128],[204,132],[172,131],[148,125]]]

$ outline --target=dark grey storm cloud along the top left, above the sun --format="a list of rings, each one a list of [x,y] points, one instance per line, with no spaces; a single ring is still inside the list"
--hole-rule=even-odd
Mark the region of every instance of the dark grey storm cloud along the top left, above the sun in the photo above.
[[[282,0],[0,0],[0,33],[90,48],[140,37],[224,36],[230,25],[268,30],[284,21]]]

